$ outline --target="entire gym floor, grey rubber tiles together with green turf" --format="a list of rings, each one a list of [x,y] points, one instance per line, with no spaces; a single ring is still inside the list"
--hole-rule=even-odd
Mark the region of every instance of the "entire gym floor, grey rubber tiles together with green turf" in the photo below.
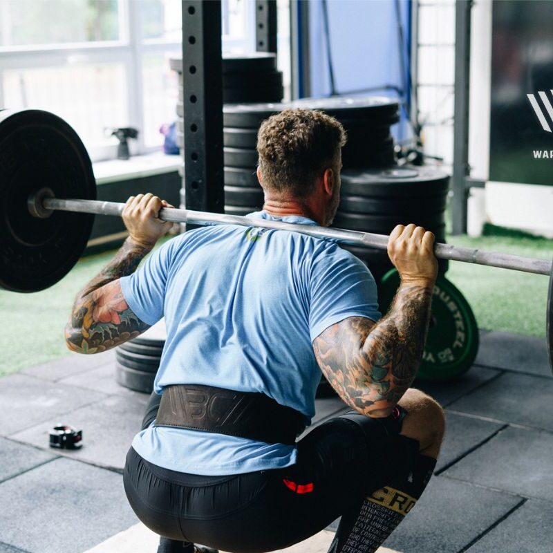
[[[450,241],[552,256],[550,240],[491,234]],[[147,396],[115,383],[113,351],[70,354],[62,341],[73,296],[111,254],[84,258],[45,292],[0,292],[0,553],[156,551],[156,536],[126,504],[121,478]],[[447,436],[429,488],[384,546],[403,553],[551,553],[547,278],[462,263],[451,263],[447,277],[487,330],[480,330],[468,373],[418,384],[445,407]],[[345,409],[337,398],[319,399],[313,424]],[[47,431],[57,422],[83,429],[81,450],[48,448]],[[326,552],[335,527],[290,552]]]

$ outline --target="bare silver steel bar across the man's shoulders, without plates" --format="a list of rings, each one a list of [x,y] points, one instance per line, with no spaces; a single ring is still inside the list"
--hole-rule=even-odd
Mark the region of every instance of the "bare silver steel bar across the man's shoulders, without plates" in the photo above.
[[[102,202],[100,200],[62,200],[59,198],[44,198],[43,207],[67,212],[93,213],[98,215],[121,216],[124,203]],[[282,223],[281,221],[268,221],[261,218],[241,217],[236,215],[224,215],[219,213],[196,212],[190,209],[163,208],[160,210],[162,221],[172,223],[191,223],[194,225],[242,225],[244,227],[262,227],[269,229],[282,229],[291,232],[299,232],[315,236],[317,238],[334,238],[335,240],[350,245],[373,247],[386,250],[388,236],[384,234],[372,234],[370,232],[356,232],[353,230],[335,229],[332,227],[317,227],[314,225],[297,225],[295,223]],[[452,261],[464,261],[476,265],[487,265],[514,271],[530,272],[534,274],[551,274],[552,262],[547,259],[535,259],[500,252],[487,252],[471,247],[458,247],[449,244],[436,243],[434,248],[438,259],[451,259]]]

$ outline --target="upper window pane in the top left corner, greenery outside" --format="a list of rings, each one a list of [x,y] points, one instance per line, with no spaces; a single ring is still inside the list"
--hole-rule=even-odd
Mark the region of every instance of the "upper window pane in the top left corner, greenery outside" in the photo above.
[[[120,39],[118,0],[0,0],[0,47]]]

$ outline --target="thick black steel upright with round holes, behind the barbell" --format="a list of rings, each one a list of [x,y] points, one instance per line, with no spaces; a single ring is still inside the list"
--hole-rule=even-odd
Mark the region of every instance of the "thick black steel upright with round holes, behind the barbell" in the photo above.
[[[223,213],[221,1],[182,0],[187,209]]]

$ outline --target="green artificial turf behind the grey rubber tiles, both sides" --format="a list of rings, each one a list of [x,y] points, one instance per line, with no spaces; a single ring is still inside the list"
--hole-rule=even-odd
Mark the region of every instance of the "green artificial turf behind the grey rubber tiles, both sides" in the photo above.
[[[553,258],[553,241],[487,226],[486,236],[450,236],[453,245],[530,257]],[[115,252],[84,257],[59,283],[35,294],[0,290],[0,375],[69,355],[64,326],[75,294]],[[451,262],[450,279],[471,304],[479,328],[545,335],[547,277]]]

